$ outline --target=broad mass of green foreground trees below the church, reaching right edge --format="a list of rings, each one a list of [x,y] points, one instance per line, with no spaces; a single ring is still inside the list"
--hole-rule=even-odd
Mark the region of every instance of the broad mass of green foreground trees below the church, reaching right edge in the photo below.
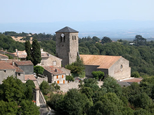
[[[79,90],[53,94],[48,105],[57,115],[153,115],[153,89],[154,77],[128,87],[121,87],[112,77],[98,87],[97,80],[90,78],[80,82]]]

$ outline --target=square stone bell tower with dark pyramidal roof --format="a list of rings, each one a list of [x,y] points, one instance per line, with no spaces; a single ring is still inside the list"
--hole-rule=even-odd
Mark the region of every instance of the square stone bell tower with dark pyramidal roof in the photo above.
[[[64,27],[56,32],[56,55],[62,66],[76,61],[78,55],[78,31]]]

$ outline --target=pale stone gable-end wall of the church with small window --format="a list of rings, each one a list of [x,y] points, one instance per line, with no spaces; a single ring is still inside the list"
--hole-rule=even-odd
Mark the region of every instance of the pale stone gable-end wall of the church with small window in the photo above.
[[[121,57],[109,68],[109,75],[117,80],[131,77],[131,68],[129,61]]]

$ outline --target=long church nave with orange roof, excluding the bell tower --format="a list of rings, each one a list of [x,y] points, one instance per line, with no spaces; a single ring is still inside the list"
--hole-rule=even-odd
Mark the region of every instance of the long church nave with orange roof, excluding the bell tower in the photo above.
[[[102,71],[117,80],[131,77],[129,61],[122,56],[80,55],[85,65],[86,76],[92,77],[93,71]]]

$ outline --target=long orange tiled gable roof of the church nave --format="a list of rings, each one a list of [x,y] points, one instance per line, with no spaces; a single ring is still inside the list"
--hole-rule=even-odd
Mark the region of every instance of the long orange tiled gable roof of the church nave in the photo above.
[[[98,68],[108,69],[122,56],[107,56],[107,55],[80,55],[84,65],[95,65]]]

